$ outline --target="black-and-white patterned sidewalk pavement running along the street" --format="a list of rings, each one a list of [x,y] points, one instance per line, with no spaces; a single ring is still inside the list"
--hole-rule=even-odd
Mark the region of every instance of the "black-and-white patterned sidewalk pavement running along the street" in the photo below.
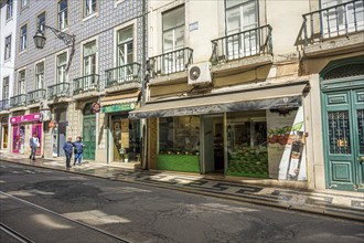
[[[61,160],[62,159],[62,160]],[[81,166],[65,168],[64,158],[30,160],[24,156],[0,152],[0,160],[26,166],[61,170],[78,175],[107,178],[139,184],[232,199],[287,210],[324,214],[364,222],[364,193],[345,191],[308,191],[274,186],[255,186],[228,181],[222,177],[170,171],[148,171],[126,163],[105,165],[85,161]]]

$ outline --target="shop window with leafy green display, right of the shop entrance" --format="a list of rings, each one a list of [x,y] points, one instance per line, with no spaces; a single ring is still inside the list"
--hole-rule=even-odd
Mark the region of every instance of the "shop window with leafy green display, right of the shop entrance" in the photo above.
[[[227,175],[268,177],[266,112],[227,114]]]

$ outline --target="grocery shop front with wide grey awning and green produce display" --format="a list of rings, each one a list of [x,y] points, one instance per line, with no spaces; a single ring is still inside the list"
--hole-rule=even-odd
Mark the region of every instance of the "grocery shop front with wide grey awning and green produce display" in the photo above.
[[[306,86],[154,102],[130,118],[158,119],[156,169],[307,180]]]

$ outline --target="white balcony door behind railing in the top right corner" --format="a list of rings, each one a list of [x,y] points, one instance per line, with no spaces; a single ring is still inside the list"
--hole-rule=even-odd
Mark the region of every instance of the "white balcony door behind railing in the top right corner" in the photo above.
[[[342,4],[349,2],[346,4]],[[364,30],[363,1],[322,0],[321,27],[324,38]]]

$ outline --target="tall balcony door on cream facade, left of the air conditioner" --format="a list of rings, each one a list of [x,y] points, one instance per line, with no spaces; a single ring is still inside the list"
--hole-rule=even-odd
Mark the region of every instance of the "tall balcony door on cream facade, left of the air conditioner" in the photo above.
[[[184,7],[163,13],[163,74],[185,70],[184,52],[174,52],[184,47]]]

